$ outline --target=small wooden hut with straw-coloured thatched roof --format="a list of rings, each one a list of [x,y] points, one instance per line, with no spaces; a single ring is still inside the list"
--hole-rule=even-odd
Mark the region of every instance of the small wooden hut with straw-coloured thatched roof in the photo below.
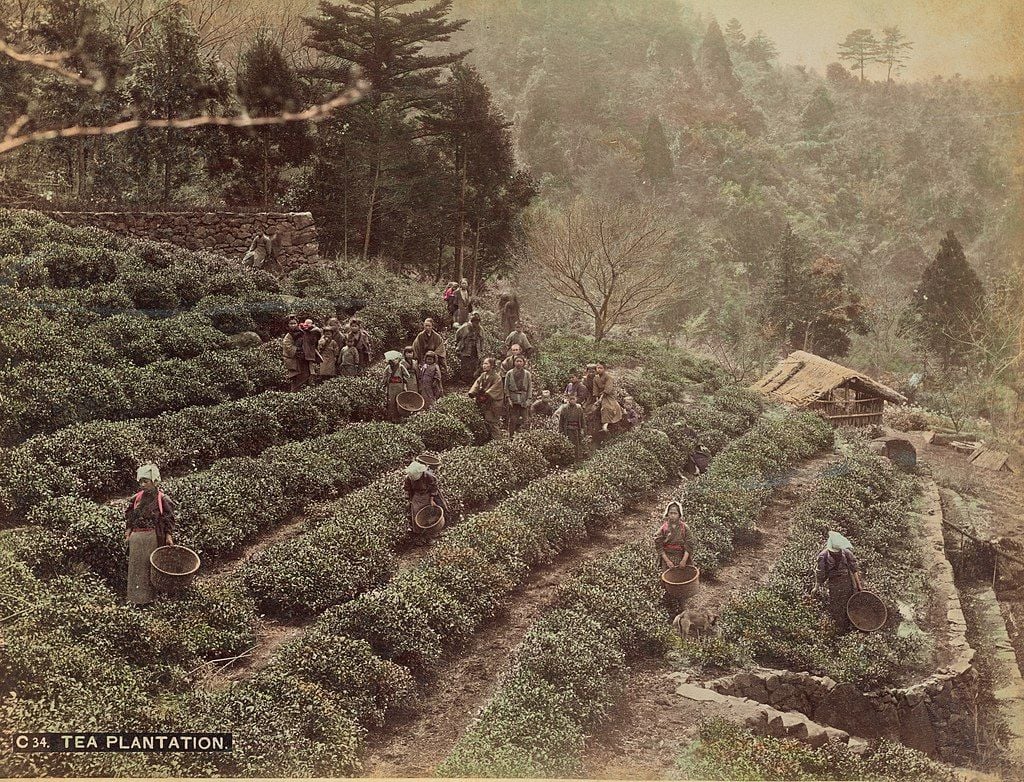
[[[882,423],[885,403],[906,397],[884,383],[827,358],[797,350],[752,388],[771,398],[816,410],[837,426]]]

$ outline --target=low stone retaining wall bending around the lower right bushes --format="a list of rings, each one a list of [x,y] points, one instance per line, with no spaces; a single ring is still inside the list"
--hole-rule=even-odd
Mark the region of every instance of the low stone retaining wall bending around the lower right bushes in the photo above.
[[[703,686],[723,695],[799,711],[851,736],[899,739],[946,763],[969,757],[977,741],[975,652],[967,641],[967,621],[952,567],[943,551],[942,507],[938,487],[931,481],[926,484],[919,515],[928,550],[929,589],[945,599],[952,662],[910,687],[872,693],[827,677],[764,668],[712,680]]]

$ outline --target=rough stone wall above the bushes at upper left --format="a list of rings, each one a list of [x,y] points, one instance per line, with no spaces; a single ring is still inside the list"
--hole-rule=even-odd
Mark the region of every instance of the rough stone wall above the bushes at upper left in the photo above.
[[[276,234],[276,259],[267,270],[294,268],[319,255],[309,212],[47,212],[68,225],[90,225],[137,238],[208,250],[242,260],[257,233]]]

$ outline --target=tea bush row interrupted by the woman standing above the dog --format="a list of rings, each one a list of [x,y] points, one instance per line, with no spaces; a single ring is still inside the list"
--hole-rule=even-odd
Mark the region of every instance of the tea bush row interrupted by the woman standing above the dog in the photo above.
[[[724,480],[770,477],[831,444],[831,429],[808,414],[764,416],[749,432],[715,458],[684,496]],[[820,421],[818,419],[818,421]],[[821,422],[824,423],[824,422]],[[780,434],[784,432],[784,434]],[[776,460],[761,458],[766,438],[780,437]],[[760,493],[760,489],[756,489]],[[741,492],[732,492],[733,499]],[[722,502],[726,502],[723,499]],[[722,506],[686,505],[691,530],[706,528]],[[763,498],[744,505],[756,515]],[[739,510],[739,509],[736,509]],[[738,518],[734,516],[733,518]],[[702,555],[699,535],[694,558]],[[516,663],[495,698],[438,769],[443,776],[555,776],[582,773],[587,730],[614,703],[621,672],[631,657],[663,651],[665,609],[650,544],[640,541],[585,565],[559,593],[553,610],[535,624],[516,655]]]

